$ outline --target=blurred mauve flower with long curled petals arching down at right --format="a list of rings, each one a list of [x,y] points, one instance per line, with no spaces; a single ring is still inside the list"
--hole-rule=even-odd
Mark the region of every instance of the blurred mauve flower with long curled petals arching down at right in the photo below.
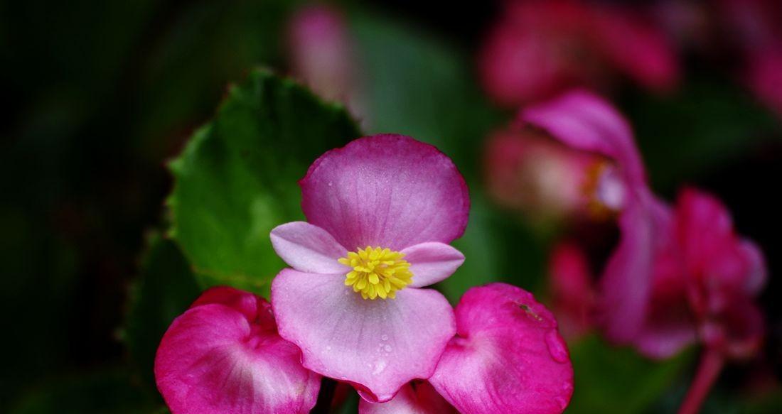
[[[585,91],[530,106],[522,110],[521,120],[571,148],[607,159],[590,196],[619,215],[620,239],[601,277],[597,317],[610,339],[630,343],[647,318],[654,246],[663,231],[657,223],[665,215],[665,206],[647,187],[630,125],[608,102]]]

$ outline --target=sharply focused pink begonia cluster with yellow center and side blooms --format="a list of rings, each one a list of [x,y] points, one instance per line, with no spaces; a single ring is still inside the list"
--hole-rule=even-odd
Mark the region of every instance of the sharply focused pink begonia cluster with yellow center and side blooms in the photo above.
[[[213,288],[164,335],[155,374],[174,414],[309,412],[321,377],[352,385],[360,412],[565,409],[569,353],[532,294],[474,287],[453,309],[426,288],[465,260],[448,243],[467,225],[468,191],[447,156],[364,137],[300,186],[307,222],[271,232],[291,266],[271,304]]]

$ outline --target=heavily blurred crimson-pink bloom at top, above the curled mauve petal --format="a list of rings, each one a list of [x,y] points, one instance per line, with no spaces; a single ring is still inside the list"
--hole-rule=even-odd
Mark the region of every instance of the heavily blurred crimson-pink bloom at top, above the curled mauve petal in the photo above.
[[[484,88],[500,105],[571,87],[610,86],[623,73],[655,91],[676,84],[664,34],[629,12],[580,2],[507,2],[479,55]]]

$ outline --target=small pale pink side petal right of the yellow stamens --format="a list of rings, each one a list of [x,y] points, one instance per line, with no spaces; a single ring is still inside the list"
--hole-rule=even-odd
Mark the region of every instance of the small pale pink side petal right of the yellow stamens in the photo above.
[[[410,271],[413,273],[411,287],[424,287],[436,284],[454,274],[456,269],[465,262],[456,248],[444,243],[415,244],[402,251],[404,259],[410,262]]]

